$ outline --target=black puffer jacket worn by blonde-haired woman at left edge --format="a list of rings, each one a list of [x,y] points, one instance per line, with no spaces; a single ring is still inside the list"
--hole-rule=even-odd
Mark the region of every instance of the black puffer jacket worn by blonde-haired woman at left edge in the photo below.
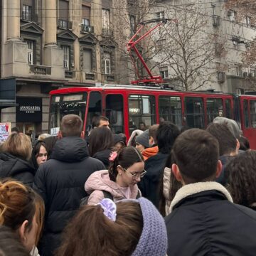
[[[0,178],[11,177],[32,186],[35,170],[21,158],[9,153],[0,153]]]

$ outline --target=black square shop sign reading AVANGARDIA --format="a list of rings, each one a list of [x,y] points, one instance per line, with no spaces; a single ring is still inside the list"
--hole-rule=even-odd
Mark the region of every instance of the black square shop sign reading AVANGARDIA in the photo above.
[[[16,122],[42,122],[42,98],[17,97]]]

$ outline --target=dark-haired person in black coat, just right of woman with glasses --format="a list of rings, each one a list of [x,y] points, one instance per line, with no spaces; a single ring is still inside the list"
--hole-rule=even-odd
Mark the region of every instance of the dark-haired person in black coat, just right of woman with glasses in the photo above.
[[[161,123],[156,132],[159,152],[145,161],[146,175],[138,186],[142,191],[142,196],[154,203],[156,208],[159,208],[159,184],[162,181],[161,177],[164,176],[166,159],[178,134],[180,131],[175,124],[171,122]]]

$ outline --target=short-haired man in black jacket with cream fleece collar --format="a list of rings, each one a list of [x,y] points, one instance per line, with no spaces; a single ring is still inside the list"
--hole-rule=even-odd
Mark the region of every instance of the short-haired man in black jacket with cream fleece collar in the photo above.
[[[233,203],[220,175],[218,141],[189,129],[174,143],[171,170],[182,187],[165,218],[169,256],[236,255],[256,252],[256,213]]]

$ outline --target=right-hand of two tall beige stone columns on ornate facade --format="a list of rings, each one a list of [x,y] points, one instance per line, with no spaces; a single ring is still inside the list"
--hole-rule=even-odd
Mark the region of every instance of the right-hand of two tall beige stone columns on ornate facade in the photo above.
[[[12,0],[15,1],[15,0]],[[57,43],[57,23],[56,23],[56,1],[45,0],[46,12],[46,28],[45,28],[45,42],[47,45]]]

